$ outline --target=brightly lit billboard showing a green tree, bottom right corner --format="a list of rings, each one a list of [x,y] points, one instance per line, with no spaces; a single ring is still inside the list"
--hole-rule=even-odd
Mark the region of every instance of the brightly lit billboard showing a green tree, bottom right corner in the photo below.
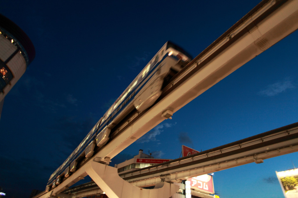
[[[277,172],[285,198],[298,198],[298,168]]]

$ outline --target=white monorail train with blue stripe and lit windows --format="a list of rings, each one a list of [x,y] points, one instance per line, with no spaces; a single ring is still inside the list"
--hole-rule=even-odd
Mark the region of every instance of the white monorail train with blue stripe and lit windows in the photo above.
[[[144,111],[152,106],[162,93],[162,87],[178,73],[192,57],[179,46],[168,41],[144,67],[139,75],[119,96],[91,131],[69,155],[64,163],[50,176],[46,191],[55,188],[77,165],[86,161],[108,142],[113,129],[131,111]]]

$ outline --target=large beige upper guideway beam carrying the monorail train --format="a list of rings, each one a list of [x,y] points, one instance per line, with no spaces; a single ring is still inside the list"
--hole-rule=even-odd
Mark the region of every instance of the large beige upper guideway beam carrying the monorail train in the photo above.
[[[90,144],[88,149],[92,152],[88,154],[88,158],[78,164],[77,170],[70,176],[68,174],[69,177],[63,177],[62,181],[59,177],[59,182],[55,181],[50,191],[41,197],[57,195],[86,175],[89,175],[108,196],[108,193],[111,193],[109,197],[121,197],[121,192],[113,191],[113,186],[109,186],[103,178],[104,175],[101,175],[104,173],[98,172],[100,170],[93,167],[92,162],[100,162],[97,163],[98,166],[104,165],[103,163],[110,161],[198,95],[294,32],[298,29],[297,18],[298,0],[263,0],[181,70],[162,90],[161,97],[153,106],[141,113],[132,114],[132,118],[117,126],[117,129],[114,128],[109,142],[100,150],[95,148],[95,154],[92,151],[94,146],[91,147],[94,144]],[[124,189],[128,183],[119,184],[117,188],[121,188],[121,185]],[[169,183],[164,183],[164,187],[156,189],[156,192],[162,194],[165,193],[166,188],[174,189],[173,185],[172,187],[169,185]],[[135,189],[132,186],[129,186],[130,188]],[[149,196],[153,191],[146,193]]]

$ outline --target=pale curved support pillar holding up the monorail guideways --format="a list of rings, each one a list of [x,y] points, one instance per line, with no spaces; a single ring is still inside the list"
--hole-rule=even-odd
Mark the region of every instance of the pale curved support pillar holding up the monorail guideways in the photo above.
[[[108,197],[115,198],[168,198],[179,190],[175,183],[162,182],[153,189],[143,189],[131,185],[119,177],[117,168],[91,161],[86,164],[86,172]]]

